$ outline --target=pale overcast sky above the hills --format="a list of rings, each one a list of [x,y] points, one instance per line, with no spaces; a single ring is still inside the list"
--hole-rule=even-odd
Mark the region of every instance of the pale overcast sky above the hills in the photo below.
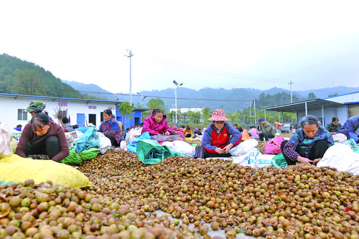
[[[359,87],[357,1],[1,1],[0,54],[110,92]]]

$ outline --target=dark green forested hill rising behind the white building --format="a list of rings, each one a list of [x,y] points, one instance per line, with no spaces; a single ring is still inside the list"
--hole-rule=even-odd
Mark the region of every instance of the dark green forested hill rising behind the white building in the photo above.
[[[62,83],[43,67],[7,54],[0,55],[0,93],[92,98]]]

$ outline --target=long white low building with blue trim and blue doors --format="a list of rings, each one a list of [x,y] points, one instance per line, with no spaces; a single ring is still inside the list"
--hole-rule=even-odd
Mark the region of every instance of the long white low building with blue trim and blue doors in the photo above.
[[[69,118],[71,125],[83,127],[92,123],[98,128],[103,121],[103,110],[111,109],[116,115],[116,119],[125,125],[124,117],[117,109],[117,105],[122,102],[12,94],[0,94],[0,110],[3,112],[0,122],[6,123],[10,129],[14,129],[17,125],[25,126],[31,119],[31,114],[25,111],[31,101],[44,102],[46,104],[45,111],[49,113],[55,123],[59,123],[55,112],[61,110]],[[140,123],[140,111],[145,110],[135,110],[134,118],[126,121],[126,127],[136,126]]]

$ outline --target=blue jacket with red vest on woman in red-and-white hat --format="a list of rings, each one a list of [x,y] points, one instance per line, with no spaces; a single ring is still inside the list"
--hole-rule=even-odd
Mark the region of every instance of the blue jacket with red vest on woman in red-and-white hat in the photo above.
[[[230,124],[225,123],[223,129],[218,134],[212,123],[203,132],[202,147],[208,153],[216,153],[216,148],[224,148],[230,143],[233,143],[234,146],[238,145],[241,138],[242,134]]]

